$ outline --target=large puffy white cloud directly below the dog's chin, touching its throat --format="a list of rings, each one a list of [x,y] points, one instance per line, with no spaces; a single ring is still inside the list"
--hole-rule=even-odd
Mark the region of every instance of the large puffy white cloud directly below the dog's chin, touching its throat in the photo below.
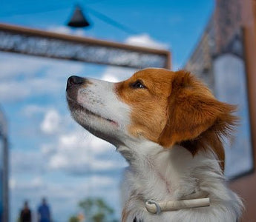
[[[111,144],[88,133],[85,136],[84,130],[59,135],[56,144],[42,149],[48,155],[48,169],[86,175],[116,172],[126,166],[121,158],[109,158],[119,155]]]

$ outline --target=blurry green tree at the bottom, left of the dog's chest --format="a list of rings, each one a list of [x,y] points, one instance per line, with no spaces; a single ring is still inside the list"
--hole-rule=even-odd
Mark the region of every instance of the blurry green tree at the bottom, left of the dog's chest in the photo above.
[[[108,206],[102,198],[85,198],[79,202],[79,207],[85,212],[86,221],[113,222],[114,209]]]

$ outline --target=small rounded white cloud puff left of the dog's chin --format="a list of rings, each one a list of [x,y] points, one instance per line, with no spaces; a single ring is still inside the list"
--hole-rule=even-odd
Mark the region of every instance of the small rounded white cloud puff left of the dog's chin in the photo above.
[[[40,128],[42,132],[45,132],[46,134],[56,133],[60,129],[60,121],[61,117],[59,112],[56,110],[48,110]]]

